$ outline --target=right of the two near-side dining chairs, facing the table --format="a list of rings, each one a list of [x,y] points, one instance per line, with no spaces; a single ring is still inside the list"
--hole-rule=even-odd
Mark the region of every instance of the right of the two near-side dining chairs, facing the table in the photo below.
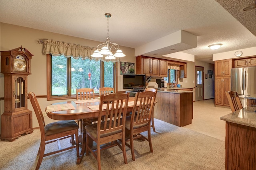
[[[134,155],[134,139],[143,138],[149,143],[150,152],[153,152],[150,132],[150,119],[153,112],[154,102],[156,98],[155,92],[140,92],[136,93],[132,115],[126,117],[125,133],[129,136],[126,145],[131,149],[132,160],[135,160]],[[148,137],[141,133],[148,131]],[[128,143],[130,141],[130,144]]]

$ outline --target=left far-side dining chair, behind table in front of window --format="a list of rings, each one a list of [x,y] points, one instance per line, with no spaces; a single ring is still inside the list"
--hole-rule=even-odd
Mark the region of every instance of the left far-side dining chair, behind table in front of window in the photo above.
[[[76,100],[90,100],[90,99],[95,99],[94,90],[92,88],[79,88],[79,89],[76,89]],[[92,122],[94,122],[94,121],[96,121],[96,119],[92,119]],[[78,126],[80,126],[80,133],[82,134],[83,120],[82,119],[78,119],[77,122],[78,122]]]

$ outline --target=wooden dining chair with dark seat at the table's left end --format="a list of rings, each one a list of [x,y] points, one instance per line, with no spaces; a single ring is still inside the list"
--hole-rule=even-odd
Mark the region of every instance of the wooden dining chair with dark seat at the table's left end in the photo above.
[[[40,165],[42,163],[43,157],[48,156],[51,154],[55,154],[58,152],[62,152],[64,150],[73,149],[76,148],[76,154],[79,156],[79,145],[78,145],[78,128],[79,126],[74,120],[67,120],[67,121],[57,121],[53,123],[49,123],[45,125],[44,117],[42,114],[42,110],[38,104],[36,95],[33,92],[28,93],[28,97],[30,99],[30,102],[32,104],[32,107],[36,113],[36,118],[39,123],[40,127],[40,133],[41,133],[41,142],[40,147],[38,150],[37,155],[39,155],[39,159],[36,165],[36,170],[40,168]],[[74,141],[74,134],[76,136],[76,140]],[[71,136],[72,144],[75,143],[75,145],[71,147],[67,147],[64,149],[60,148],[60,140],[66,139]],[[45,147],[48,143],[52,142],[58,142],[59,150],[44,153]]]

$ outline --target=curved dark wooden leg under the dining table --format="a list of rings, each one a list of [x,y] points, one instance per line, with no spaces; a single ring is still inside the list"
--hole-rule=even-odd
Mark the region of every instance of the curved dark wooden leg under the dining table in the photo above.
[[[85,130],[85,126],[92,124],[92,119],[83,119],[83,124],[82,124],[82,150],[80,152],[80,155],[78,156],[77,160],[76,160],[76,164],[80,164],[82,162],[82,158],[84,157],[84,153],[86,151],[86,130]],[[93,145],[93,141],[90,140],[90,145]]]

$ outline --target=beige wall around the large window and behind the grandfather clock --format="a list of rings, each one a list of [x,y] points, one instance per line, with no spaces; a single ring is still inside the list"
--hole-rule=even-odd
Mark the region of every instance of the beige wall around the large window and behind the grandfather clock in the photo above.
[[[85,31],[86,33],[86,31]],[[28,92],[32,91],[37,96],[46,95],[46,55],[42,54],[43,45],[38,43],[40,39],[54,39],[56,41],[64,41],[66,43],[80,44],[83,46],[97,47],[102,42],[92,41],[88,39],[82,39],[78,37],[72,37],[62,35],[58,33],[52,33],[47,31],[41,31],[38,29],[30,29],[27,27],[20,27],[17,25],[10,25],[6,23],[0,23],[0,51],[8,51],[18,48],[22,45],[34,56],[31,60],[31,75],[28,75]],[[113,40],[114,41],[114,40]],[[136,63],[134,57],[134,49],[129,47],[120,47],[126,54],[126,57],[120,58],[120,61],[126,61],[129,63]],[[135,66],[136,67],[136,66]],[[120,63],[118,63],[118,70],[120,70]],[[118,90],[122,89],[122,76],[118,72]],[[4,75],[0,73],[0,97],[4,97]],[[41,109],[52,103],[62,102],[61,100],[47,101],[46,98],[39,98],[38,102]],[[0,113],[4,112],[4,101],[0,102]],[[28,100],[28,109],[33,110],[30,101]],[[36,115],[33,110],[33,127],[39,127]],[[53,120],[45,117],[46,124]]]

